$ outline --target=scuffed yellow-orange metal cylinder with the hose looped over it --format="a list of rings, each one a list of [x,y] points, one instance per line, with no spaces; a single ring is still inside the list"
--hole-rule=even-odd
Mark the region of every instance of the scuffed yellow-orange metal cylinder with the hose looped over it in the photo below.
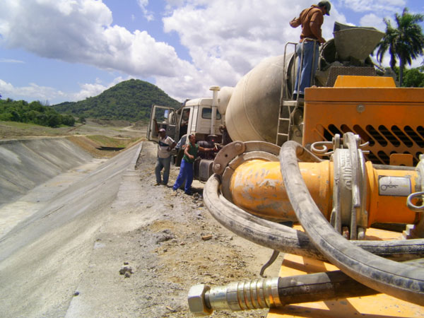
[[[368,162],[368,224],[404,223],[420,220],[420,213],[406,206],[406,196],[416,192],[418,172],[414,170],[377,170]],[[315,204],[330,219],[333,195],[333,163],[300,163],[300,172]],[[296,220],[288,200],[280,163],[249,160],[238,166],[231,177],[230,192],[237,206],[264,218]]]

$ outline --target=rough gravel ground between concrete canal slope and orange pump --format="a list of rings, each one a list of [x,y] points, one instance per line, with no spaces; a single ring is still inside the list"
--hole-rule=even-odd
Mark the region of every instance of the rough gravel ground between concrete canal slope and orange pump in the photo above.
[[[155,180],[152,174],[155,146],[145,145],[138,167],[140,179],[146,187],[145,194],[148,194]],[[176,179],[177,173],[178,169],[172,167],[170,183]],[[163,198],[160,207],[156,208],[158,219],[134,232],[134,237],[139,237],[139,248],[144,257],[134,261],[136,271],[129,279],[138,281],[141,284],[139,290],[143,290],[141,317],[193,317],[187,308],[187,293],[192,285],[224,285],[258,278],[261,263],[254,255],[263,254],[262,261],[271,255],[269,249],[261,249],[219,225],[204,207],[203,184],[195,182],[194,185],[200,195],[187,196],[182,191],[173,192],[170,187],[153,187],[153,192]],[[204,240],[209,237],[210,240]],[[278,267],[273,270],[278,272]],[[165,290],[167,297],[163,298]],[[259,310],[216,312],[213,317],[264,315],[266,311]]]

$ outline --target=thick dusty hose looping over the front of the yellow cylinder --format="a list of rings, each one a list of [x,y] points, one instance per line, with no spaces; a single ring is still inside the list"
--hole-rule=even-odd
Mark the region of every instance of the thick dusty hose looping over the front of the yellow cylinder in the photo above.
[[[340,235],[324,218],[300,173],[299,143],[287,141],[280,151],[281,174],[290,203],[310,240],[322,254],[351,278],[396,298],[424,305],[424,270],[382,259]]]

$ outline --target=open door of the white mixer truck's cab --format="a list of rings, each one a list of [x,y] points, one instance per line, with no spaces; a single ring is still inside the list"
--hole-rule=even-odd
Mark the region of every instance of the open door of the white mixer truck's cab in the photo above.
[[[159,141],[159,129],[166,130],[167,136],[175,140],[175,110],[170,107],[152,105],[150,122],[147,129],[147,139]]]

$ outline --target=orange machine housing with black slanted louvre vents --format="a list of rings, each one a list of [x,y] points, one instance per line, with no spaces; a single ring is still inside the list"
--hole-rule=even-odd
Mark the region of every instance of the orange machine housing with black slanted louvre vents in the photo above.
[[[332,88],[306,88],[303,146],[351,131],[370,144],[372,163],[391,164],[391,153],[417,165],[424,148],[423,88],[396,88],[392,78],[338,76]]]

